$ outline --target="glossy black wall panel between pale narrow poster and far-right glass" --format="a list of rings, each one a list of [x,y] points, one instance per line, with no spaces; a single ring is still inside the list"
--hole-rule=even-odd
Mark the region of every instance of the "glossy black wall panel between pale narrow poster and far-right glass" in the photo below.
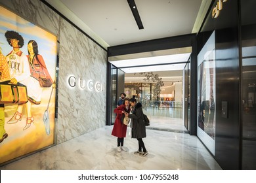
[[[215,7],[216,2],[213,3]],[[223,3],[218,18],[209,11],[198,34],[201,50],[215,30],[216,49],[216,139],[215,159],[223,169],[240,169],[240,65],[238,0]],[[200,51],[198,51],[200,52]],[[221,114],[223,101],[228,103],[228,118]]]

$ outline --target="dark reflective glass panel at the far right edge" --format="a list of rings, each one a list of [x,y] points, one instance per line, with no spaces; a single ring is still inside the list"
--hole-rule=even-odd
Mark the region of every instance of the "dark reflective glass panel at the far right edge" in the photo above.
[[[256,1],[241,2],[242,169],[256,169]]]

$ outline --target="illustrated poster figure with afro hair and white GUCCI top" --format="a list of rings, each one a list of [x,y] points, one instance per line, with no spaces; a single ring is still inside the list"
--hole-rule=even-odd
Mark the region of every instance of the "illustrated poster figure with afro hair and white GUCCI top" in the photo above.
[[[28,58],[22,50],[20,50],[20,48],[24,46],[24,39],[16,31],[7,31],[5,37],[7,42],[12,46],[12,51],[6,57],[10,69],[10,82],[12,84],[20,82],[21,84],[26,85],[27,80],[30,78],[30,66],[28,64]],[[16,124],[16,122],[22,120],[22,106],[23,105],[18,105],[16,112],[7,124]],[[28,113],[26,126],[30,125],[32,122],[33,117]]]

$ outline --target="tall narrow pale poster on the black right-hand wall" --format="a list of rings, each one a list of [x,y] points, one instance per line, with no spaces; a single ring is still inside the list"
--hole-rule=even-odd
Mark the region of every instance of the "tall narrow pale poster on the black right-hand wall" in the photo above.
[[[198,54],[198,137],[215,154],[215,32]]]

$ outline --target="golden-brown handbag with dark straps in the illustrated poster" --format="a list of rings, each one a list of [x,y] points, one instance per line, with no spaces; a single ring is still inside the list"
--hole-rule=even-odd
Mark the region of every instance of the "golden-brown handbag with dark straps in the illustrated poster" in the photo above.
[[[0,104],[28,101],[27,87],[23,84],[11,84],[10,81],[0,82]]]

